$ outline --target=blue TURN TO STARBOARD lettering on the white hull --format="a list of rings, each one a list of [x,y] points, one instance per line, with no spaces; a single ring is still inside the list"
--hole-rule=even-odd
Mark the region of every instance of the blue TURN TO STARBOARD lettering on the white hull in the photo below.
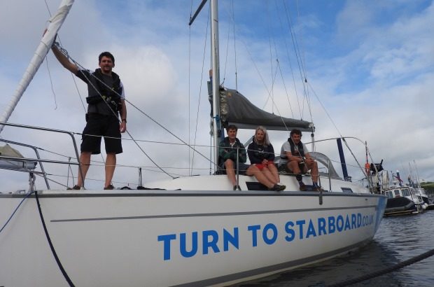
[[[248,245],[256,247],[260,243],[275,244],[276,241],[305,240],[318,236],[332,235],[335,232],[346,232],[363,228],[374,223],[374,215],[347,214],[346,216],[328,216],[316,219],[302,219],[287,221],[283,230],[279,230],[273,223],[265,225],[248,225]],[[280,232],[283,236],[280,236]],[[239,249],[239,227],[232,230],[202,230],[193,232],[181,232],[179,234],[158,235],[158,241],[162,242],[164,260],[170,260],[174,252],[179,252],[183,258],[195,255],[207,255]]]

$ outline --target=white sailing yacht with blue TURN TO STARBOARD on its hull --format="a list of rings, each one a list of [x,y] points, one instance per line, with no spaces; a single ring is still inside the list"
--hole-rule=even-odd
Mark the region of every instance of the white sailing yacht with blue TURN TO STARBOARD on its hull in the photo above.
[[[209,2],[211,50],[218,51],[218,3]],[[62,20],[48,27],[36,58],[48,52],[72,3],[62,1],[53,16]],[[231,112],[237,106],[232,101],[246,99],[221,87],[218,52],[213,71],[218,146],[221,96],[228,99],[228,123],[257,122],[240,123],[244,117]],[[269,118],[269,127],[276,122],[271,114],[260,115]],[[7,120],[0,125],[68,134]],[[313,129],[302,120],[282,125]],[[155,181],[146,190],[52,190],[48,181],[45,189],[34,186],[37,172],[31,167],[46,160],[2,154],[3,161],[32,163],[16,169],[29,174],[29,190],[0,194],[0,286],[226,286],[349,253],[374,237],[386,197],[339,178],[330,160],[320,158],[328,167],[321,174],[324,192],[298,191],[291,175],[281,175],[286,186],[281,192],[263,190],[251,176],[239,175],[242,190],[234,191],[223,174]]]

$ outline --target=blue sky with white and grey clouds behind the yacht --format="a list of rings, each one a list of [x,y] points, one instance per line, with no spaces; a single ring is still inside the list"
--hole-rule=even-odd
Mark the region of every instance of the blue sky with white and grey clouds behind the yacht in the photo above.
[[[0,1],[0,113],[60,2]],[[62,47],[86,69],[97,68],[104,50],[116,57],[113,71],[125,85],[129,132],[118,155],[116,187],[137,186],[139,167],[144,186],[169,179],[165,172],[210,172],[209,5],[188,26],[199,3],[76,1],[59,31]],[[348,139],[351,152],[345,151],[354,181],[363,178],[357,162],[365,164],[365,141],[369,162],[384,160],[383,167],[399,170],[403,179],[411,174],[434,181],[433,1],[221,0],[218,5],[225,87],[236,87],[270,113],[313,122],[316,151],[329,155],[339,173],[335,141],[321,140],[360,139]],[[86,91],[49,52],[8,122],[73,132],[79,145]],[[238,137],[245,143],[253,133],[239,130]],[[288,132],[269,136],[278,153]],[[0,137],[37,146],[44,159],[76,160],[67,134],[5,127]],[[311,141],[308,132],[302,140]],[[195,144],[199,153],[183,142]],[[36,157],[29,148],[18,149]],[[102,188],[103,165],[102,156],[92,156],[87,188]],[[44,167],[55,181],[51,188],[73,185],[76,166]],[[27,180],[25,173],[0,169],[0,192],[26,189]],[[42,179],[36,188],[45,188]]]

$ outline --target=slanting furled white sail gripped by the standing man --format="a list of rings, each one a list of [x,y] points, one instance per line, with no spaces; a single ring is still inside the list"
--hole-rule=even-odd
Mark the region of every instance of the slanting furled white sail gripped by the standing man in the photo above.
[[[36,51],[31,58],[30,64],[29,66],[27,66],[27,69],[22,76],[20,83],[18,84],[17,90],[15,90],[12,99],[6,107],[6,110],[3,112],[3,115],[0,118],[0,123],[6,123],[9,120],[10,115],[15,109],[15,106],[17,106],[18,102],[20,102],[22,94],[24,94],[25,90],[29,86],[31,79],[34,77],[36,71],[38,71],[39,66],[41,66],[43,62],[43,59],[48,54],[52,43],[55,41],[57,31],[59,31],[60,27],[62,26],[66,15],[68,15],[69,10],[71,9],[72,4],[73,0],[62,0],[59,9],[57,9],[55,15],[53,15],[52,18],[49,20],[50,25],[48,25],[47,31],[41,39],[41,43],[39,43],[38,48],[36,48]],[[4,125],[0,125],[0,134],[3,130],[3,127]]]

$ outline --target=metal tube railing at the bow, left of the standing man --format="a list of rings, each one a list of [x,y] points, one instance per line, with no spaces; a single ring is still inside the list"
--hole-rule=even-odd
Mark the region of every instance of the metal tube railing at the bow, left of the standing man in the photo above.
[[[31,125],[20,125],[20,124],[14,124],[14,123],[2,123],[2,122],[0,122],[0,125],[24,128],[24,129],[29,129],[29,130],[41,130],[41,131],[45,131],[45,132],[55,132],[55,133],[59,133],[59,134],[69,134],[69,137],[71,137],[71,139],[72,139],[73,148],[74,148],[74,151],[76,153],[77,162],[66,162],[66,161],[62,161],[62,160],[43,160],[43,159],[41,159],[36,146],[31,146],[29,144],[23,144],[23,143],[19,143],[16,141],[9,141],[7,139],[0,139],[0,141],[3,141],[7,144],[15,144],[18,146],[24,146],[24,147],[31,148],[34,150],[34,152],[36,154],[36,158],[16,158],[16,157],[9,157],[9,156],[0,155],[0,159],[3,159],[3,160],[11,160],[11,161],[15,161],[15,162],[38,162],[39,163],[39,165],[41,167],[41,172],[34,171],[33,169],[2,167],[3,169],[16,170],[16,171],[20,171],[20,172],[28,172],[29,176],[30,176],[30,178],[29,178],[29,184],[30,184],[29,189],[30,190],[34,190],[34,174],[41,174],[41,176],[43,176],[43,178],[45,180],[45,184],[47,186],[47,189],[48,190],[50,189],[50,184],[48,183],[47,174],[45,172],[45,169],[43,168],[43,162],[55,163],[55,164],[61,164],[61,165],[78,165],[79,176],[83,176],[81,166],[80,166],[80,157],[78,154],[77,143],[76,143],[76,139],[73,137],[73,132],[68,132],[68,131],[64,131],[64,130],[49,129],[46,127],[34,127]]]

